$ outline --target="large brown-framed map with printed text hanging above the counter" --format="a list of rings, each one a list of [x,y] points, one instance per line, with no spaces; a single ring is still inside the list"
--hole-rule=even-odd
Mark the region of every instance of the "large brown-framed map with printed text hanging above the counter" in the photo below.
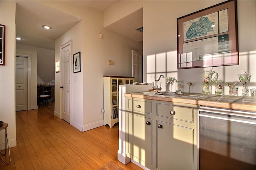
[[[177,18],[178,69],[238,65],[236,1]]]

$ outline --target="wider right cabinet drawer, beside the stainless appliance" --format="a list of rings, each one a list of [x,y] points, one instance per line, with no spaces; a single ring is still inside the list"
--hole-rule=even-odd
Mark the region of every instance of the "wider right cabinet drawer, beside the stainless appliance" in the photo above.
[[[168,117],[180,121],[194,122],[194,109],[174,105],[156,104],[156,114],[158,116]],[[172,115],[173,114],[173,115]]]

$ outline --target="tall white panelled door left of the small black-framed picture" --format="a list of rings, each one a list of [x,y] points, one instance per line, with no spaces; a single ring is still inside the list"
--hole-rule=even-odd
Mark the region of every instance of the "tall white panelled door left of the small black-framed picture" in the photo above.
[[[70,123],[70,44],[62,48],[62,119]]]

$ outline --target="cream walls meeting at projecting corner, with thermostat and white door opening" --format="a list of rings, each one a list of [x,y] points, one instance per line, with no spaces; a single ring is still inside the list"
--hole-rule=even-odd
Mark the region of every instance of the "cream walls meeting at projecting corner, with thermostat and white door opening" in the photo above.
[[[81,52],[81,72],[71,69],[71,125],[86,131],[104,125],[103,76],[131,76],[131,51],[141,49],[141,43],[103,28],[103,13],[72,6],[63,2],[42,2],[81,18],[55,42],[55,60],[60,60],[60,46],[72,40],[72,54]],[[103,34],[103,39],[99,34]],[[108,65],[108,60],[114,65]],[[73,62],[73,61],[72,61]],[[60,66],[61,67],[61,66]],[[61,73],[55,74],[56,87],[60,86]],[[75,82],[76,79],[76,82]],[[61,117],[61,94],[55,90],[55,115]]]

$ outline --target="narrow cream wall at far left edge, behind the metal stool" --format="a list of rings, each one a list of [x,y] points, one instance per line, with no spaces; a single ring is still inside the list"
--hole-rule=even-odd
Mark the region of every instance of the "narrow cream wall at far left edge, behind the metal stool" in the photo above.
[[[15,117],[15,11],[13,1],[0,1],[0,21],[5,25],[5,65],[0,66],[0,120],[8,123],[10,147],[16,146]],[[4,17],[4,16],[8,16]],[[1,131],[1,150],[5,144],[5,130]]]

